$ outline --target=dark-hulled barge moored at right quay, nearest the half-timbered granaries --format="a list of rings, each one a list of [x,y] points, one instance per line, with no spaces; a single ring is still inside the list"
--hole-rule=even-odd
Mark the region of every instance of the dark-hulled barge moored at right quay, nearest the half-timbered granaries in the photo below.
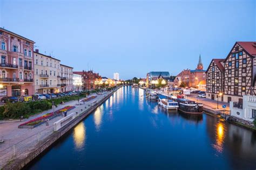
[[[179,110],[187,114],[203,114],[204,105],[183,97],[172,96],[172,100],[179,103]]]

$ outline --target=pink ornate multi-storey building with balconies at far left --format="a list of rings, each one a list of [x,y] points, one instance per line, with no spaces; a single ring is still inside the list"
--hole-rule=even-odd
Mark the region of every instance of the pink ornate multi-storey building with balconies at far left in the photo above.
[[[0,28],[0,98],[32,95],[34,41]]]

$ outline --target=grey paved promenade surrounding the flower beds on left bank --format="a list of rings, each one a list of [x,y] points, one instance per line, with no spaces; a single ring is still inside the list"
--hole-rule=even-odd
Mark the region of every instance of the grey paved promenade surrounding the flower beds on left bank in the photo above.
[[[68,115],[72,112],[81,112],[81,109],[86,111],[97,101],[102,100],[107,94],[109,94],[109,92],[106,92],[103,95],[97,95],[97,97],[91,101],[85,103],[80,102],[80,105],[78,105],[78,101],[66,102],[65,104],[58,105],[55,110],[64,108],[67,105],[74,105],[76,108],[68,111]],[[89,95],[89,97],[90,96],[92,95]],[[83,98],[80,100],[82,99]],[[43,111],[40,114],[24,119],[22,122],[0,123],[0,139],[4,139],[4,143],[0,144],[0,169],[10,161],[10,159],[14,158],[14,155],[16,155],[16,157],[17,155],[26,157],[26,155],[33,149],[33,146],[53,133],[53,123],[63,118],[63,116],[51,119],[49,121],[49,126],[46,126],[46,123],[44,123],[34,129],[18,129],[18,125],[52,111],[53,109]]]

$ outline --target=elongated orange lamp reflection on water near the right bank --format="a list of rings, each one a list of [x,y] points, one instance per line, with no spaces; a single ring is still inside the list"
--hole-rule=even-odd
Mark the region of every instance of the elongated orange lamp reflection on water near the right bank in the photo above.
[[[218,151],[222,152],[223,151],[223,144],[224,144],[224,139],[225,139],[225,125],[221,122],[219,122],[216,125],[216,134],[215,134],[215,144],[213,147]]]

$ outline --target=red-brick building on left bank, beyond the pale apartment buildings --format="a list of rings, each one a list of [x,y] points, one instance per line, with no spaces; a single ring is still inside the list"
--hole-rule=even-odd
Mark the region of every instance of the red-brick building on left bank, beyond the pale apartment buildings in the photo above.
[[[83,72],[73,72],[74,74],[82,75],[83,82],[83,90],[93,90],[96,88],[96,81],[99,82],[101,80],[101,76],[99,73],[93,73],[92,70]]]

